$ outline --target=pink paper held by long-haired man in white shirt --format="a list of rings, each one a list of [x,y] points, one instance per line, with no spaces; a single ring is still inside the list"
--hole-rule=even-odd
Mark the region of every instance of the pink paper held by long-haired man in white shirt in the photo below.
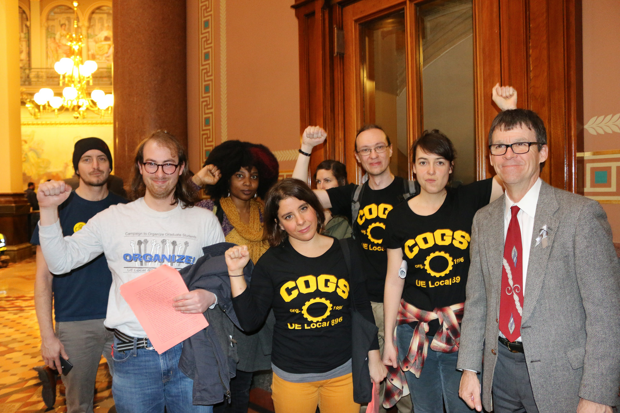
[[[159,354],[209,325],[202,314],[174,310],[173,298],[186,292],[179,271],[166,264],[120,286],[121,295]]]

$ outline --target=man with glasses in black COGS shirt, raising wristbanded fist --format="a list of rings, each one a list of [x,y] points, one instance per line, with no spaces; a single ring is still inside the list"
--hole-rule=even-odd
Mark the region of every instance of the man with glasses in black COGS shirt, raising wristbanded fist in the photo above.
[[[301,137],[301,149],[293,178],[308,180],[312,147],[321,144],[326,136],[319,126],[306,128]],[[389,169],[391,156],[392,145],[383,129],[375,124],[366,125],[355,138],[355,159],[368,173],[368,181],[361,186],[351,183],[327,190],[314,190],[323,207],[331,209],[332,215],[344,215],[350,220],[353,237],[360,242],[365,260],[363,265],[367,270],[366,288],[373,306],[374,321],[379,328],[379,347],[382,353],[383,289],[387,268],[387,253],[383,246],[385,221],[393,207],[413,196],[415,192],[412,181],[392,174]],[[412,409],[411,399],[402,398],[397,409],[401,413],[409,413]]]

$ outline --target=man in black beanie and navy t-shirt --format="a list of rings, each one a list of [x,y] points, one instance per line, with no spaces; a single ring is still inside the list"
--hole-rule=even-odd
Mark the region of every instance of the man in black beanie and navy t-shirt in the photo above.
[[[126,199],[108,192],[112,154],[98,137],[76,142],[73,167],[79,183],[58,208],[63,235],[78,232],[89,219],[107,207],[126,203]],[[47,367],[37,367],[43,382],[43,401],[48,407],[56,400],[56,374],[62,368],[60,358],[73,363],[63,377],[69,413],[92,413],[97,368],[104,354],[112,367],[110,349],[113,333],[104,326],[112,274],[102,254],[68,274],[54,277],[48,269],[39,244],[38,226],[30,243],[37,245],[35,308],[41,333],[41,354]],[[56,328],[51,317],[52,297]],[[110,368],[112,373],[112,368]]]

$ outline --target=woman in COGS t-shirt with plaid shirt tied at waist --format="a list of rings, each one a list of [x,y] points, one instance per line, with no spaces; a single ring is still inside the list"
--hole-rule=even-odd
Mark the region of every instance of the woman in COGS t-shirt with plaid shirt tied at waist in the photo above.
[[[414,142],[412,154],[420,194],[389,213],[384,242],[384,407],[410,391],[415,413],[441,413],[444,402],[448,413],[469,412],[458,396],[456,371],[469,234],[476,211],[498,198],[502,187],[489,178],[446,188],[456,155],[436,129]]]

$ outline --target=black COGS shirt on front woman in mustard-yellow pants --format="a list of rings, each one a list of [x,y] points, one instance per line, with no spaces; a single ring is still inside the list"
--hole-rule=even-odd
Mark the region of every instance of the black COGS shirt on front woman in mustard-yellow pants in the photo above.
[[[287,373],[325,373],[351,358],[351,312],[373,320],[363,282],[351,283],[339,241],[309,258],[288,240],[256,263],[250,288],[232,298],[242,328],[258,328],[273,308],[272,363]],[[378,346],[376,347],[378,348]]]

